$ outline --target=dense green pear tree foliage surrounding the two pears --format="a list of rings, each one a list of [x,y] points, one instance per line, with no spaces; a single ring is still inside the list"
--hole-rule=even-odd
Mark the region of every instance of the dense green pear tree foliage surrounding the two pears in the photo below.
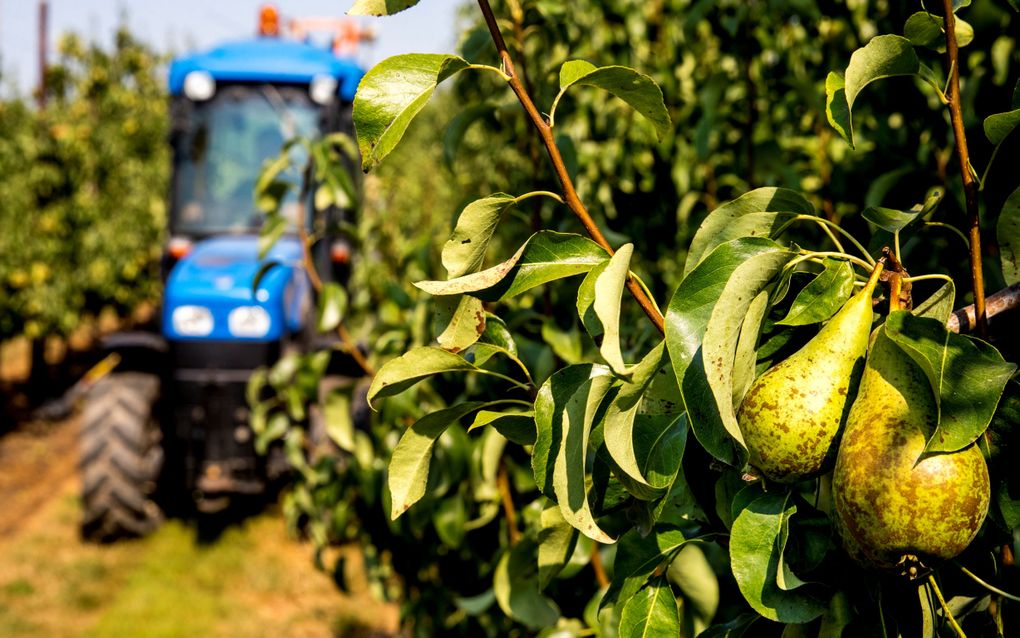
[[[888,246],[885,296],[913,287],[920,303],[916,316],[882,305],[880,321],[942,406],[927,452],[1009,436],[1003,410],[1014,402],[997,406],[1017,352],[1004,358],[944,325],[956,293],[945,280],[967,260],[949,248],[953,235],[935,235],[946,224],[934,219],[954,219],[963,191],[947,173],[939,43],[919,22],[930,16],[911,17],[905,3],[837,3],[824,13],[782,1],[638,4],[510,3],[503,26],[520,63],[511,80],[487,67],[497,60],[481,27],[459,56],[399,56],[366,77],[355,112],[363,162],[397,166],[388,174],[400,175],[397,184],[411,183],[409,166],[436,165],[407,159],[440,152],[410,126],[440,128],[425,101],[463,103],[442,152],[464,200],[448,193],[446,210],[460,214],[428,219],[452,231],[439,241],[376,245],[387,273],[417,282],[391,286],[389,307],[399,307],[374,314],[364,333],[380,335],[372,356],[382,364],[368,391],[379,411],[370,425],[326,429],[345,453],[305,473],[293,519],[304,518],[323,548],[357,538],[370,555],[386,553],[393,572],[380,582],[400,579],[420,635],[888,627],[935,636],[950,610],[985,632],[976,635],[993,635],[1001,606],[938,605],[934,578],[879,579],[852,563],[830,521],[827,478],[759,482],[735,420],[755,378],[815,334]],[[1015,54],[989,44],[1013,19],[998,6],[973,11],[967,51],[988,54],[970,58],[965,111],[981,112],[1015,79]],[[438,92],[454,73],[454,90]],[[497,79],[519,80],[550,114],[544,122],[576,192],[545,169],[538,138],[510,92],[494,89]],[[579,90],[585,84],[611,95]],[[973,154],[984,166],[992,152],[1010,152],[1001,133],[1009,121],[993,121],[991,146]],[[400,154],[405,136],[410,155]],[[989,205],[1016,188],[1003,171],[982,180]],[[563,196],[532,198],[547,192]],[[576,211],[573,195],[616,231],[606,235],[618,250],[572,232],[563,208]],[[1004,219],[1012,246],[1016,220]],[[369,242],[366,228],[359,237]],[[1011,254],[1006,277],[1015,276]],[[440,256],[446,279],[435,275]],[[911,278],[900,261],[927,275]],[[369,279],[375,294],[381,278]],[[944,286],[929,296],[937,279]],[[664,334],[629,302],[632,286],[668,297]],[[358,294],[349,317],[362,316]],[[301,431],[282,435],[285,445]],[[997,458],[1000,514],[975,552],[1015,534]],[[954,568],[926,567],[953,594],[973,593]]]

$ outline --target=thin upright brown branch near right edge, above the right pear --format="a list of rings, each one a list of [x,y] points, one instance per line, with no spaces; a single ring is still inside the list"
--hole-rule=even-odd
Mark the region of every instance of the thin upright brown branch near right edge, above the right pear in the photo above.
[[[949,99],[950,118],[953,120],[953,136],[956,138],[957,157],[963,175],[963,190],[967,201],[967,226],[970,236],[970,277],[974,286],[974,311],[977,333],[982,338],[988,336],[988,320],[984,301],[984,276],[981,272],[981,227],[978,218],[978,184],[970,166],[967,151],[967,133],[963,127],[963,109],[960,104],[960,54],[956,39],[956,15],[953,0],[942,0],[946,26],[946,62],[950,68]]]

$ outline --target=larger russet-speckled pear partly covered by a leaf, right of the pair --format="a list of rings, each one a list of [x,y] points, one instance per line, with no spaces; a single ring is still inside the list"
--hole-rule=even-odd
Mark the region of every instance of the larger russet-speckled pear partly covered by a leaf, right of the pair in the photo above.
[[[977,446],[918,462],[937,423],[924,373],[879,328],[832,475],[835,528],[865,567],[949,559],[980,529],[989,486]]]

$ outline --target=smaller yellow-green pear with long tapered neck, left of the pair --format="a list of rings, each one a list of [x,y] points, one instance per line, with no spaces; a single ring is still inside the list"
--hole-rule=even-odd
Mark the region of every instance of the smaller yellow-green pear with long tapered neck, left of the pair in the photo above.
[[[772,481],[826,472],[868,350],[881,264],[811,341],[759,377],[736,413],[750,462]]]

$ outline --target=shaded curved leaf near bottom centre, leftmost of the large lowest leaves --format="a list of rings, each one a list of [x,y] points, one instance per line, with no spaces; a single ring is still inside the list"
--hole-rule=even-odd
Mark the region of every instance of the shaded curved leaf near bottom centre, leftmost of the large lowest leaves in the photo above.
[[[503,612],[529,629],[556,624],[560,610],[539,587],[536,541],[524,537],[496,566],[493,589]]]

